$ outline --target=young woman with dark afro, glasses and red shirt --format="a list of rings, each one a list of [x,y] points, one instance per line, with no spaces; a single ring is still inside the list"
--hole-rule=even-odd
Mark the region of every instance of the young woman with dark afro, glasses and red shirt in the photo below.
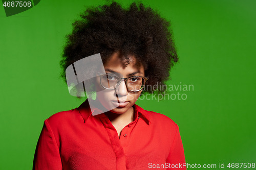
[[[178,61],[169,26],[150,7],[116,2],[74,22],[62,75],[66,81],[69,66],[100,54],[103,67],[83,82],[96,98],[45,120],[33,169],[186,169],[177,124],[135,104],[141,93],[163,93],[147,87],[163,85]]]

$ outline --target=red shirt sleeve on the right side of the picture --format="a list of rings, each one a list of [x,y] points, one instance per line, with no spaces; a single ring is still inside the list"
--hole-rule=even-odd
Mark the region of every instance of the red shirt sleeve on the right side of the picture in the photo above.
[[[183,144],[180,137],[179,127],[177,126],[176,134],[172,147],[170,148],[169,155],[166,162],[169,164],[167,169],[186,169],[185,155]]]

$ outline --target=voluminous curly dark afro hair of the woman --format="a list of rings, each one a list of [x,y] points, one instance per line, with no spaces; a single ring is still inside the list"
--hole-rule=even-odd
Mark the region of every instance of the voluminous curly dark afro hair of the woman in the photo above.
[[[87,8],[73,23],[73,31],[66,36],[61,77],[66,82],[66,68],[72,63],[100,53],[103,64],[120,52],[124,62],[134,55],[150,77],[147,86],[163,86],[169,80],[170,68],[178,61],[170,22],[151,7],[132,3],[125,9],[112,2]],[[154,87],[155,87],[154,86]],[[166,89],[146,88],[142,91],[162,93]]]

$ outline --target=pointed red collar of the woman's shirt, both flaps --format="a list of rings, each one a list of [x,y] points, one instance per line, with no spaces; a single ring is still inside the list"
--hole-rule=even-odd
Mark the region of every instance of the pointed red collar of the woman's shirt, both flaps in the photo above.
[[[148,111],[142,109],[141,107],[139,107],[138,105],[134,104],[134,108],[136,111],[136,115],[140,116],[142,115],[142,117],[144,118],[145,122],[150,125],[151,121],[148,117],[150,117],[150,115],[148,114]],[[86,120],[92,115],[93,112],[97,111],[97,112],[101,112],[101,110],[95,108],[94,106],[89,105],[89,101],[88,99],[86,101],[84,101],[78,108],[79,113],[81,114],[84,122],[86,123]],[[137,114],[139,113],[139,114]],[[105,114],[97,114],[95,115],[97,117],[105,117]],[[141,116],[140,116],[141,117]]]

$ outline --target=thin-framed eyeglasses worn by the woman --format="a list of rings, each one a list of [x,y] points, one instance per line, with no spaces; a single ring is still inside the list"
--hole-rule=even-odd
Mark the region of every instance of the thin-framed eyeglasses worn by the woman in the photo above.
[[[142,76],[120,78],[119,76],[110,73],[104,74],[97,72],[97,74],[100,76],[101,86],[108,90],[116,89],[121,84],[121,81],[124,80],[127,89],[129,89],[130,91],[137,92],[144,88],[145,83],[148,80],[148,77]]]

